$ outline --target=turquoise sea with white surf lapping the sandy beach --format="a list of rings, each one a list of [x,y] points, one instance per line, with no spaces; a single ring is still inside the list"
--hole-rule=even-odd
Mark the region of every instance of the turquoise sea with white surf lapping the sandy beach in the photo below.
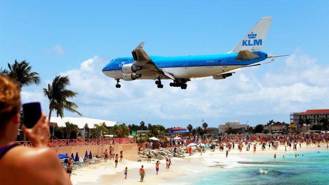
[[[216,167],[214,167],[216,168]],[[206,173],[183,177],[181,184],[329,184],[329,151],[252,156],[232,168],[218,167]]]

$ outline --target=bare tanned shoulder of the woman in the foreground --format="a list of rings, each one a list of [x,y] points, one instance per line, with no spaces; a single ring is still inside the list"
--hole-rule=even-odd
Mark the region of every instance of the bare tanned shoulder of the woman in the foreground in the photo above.
[[[59,158],[50,148],[16,146],[4,158],[6,159],[1,160],[0,163],[6,169],[10,169],[11,173],[7,176],[20,174],[21,178],[11,178],[17,184],[38,184],[36,182],[42,184],[53,184],[54,182],[56,182],[55,184],[70,184]],[[0,167],[0,169],[2,168]]]

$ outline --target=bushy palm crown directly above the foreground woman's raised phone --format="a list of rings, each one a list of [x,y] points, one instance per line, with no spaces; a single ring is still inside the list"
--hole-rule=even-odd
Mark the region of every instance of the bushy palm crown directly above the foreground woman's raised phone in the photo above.
[[[29,63],[25,60],[22,62],[15,62],[10,65],[8,63],[9,71],[7,71],[8,76],[15,80],[22,89],[23,86],[29,86],[33,84],[39,85],[41,82],[40,77],[38,77],[38,72],[31,72],[32,66],[29,66]],[[6,69],[3,70],[6,72]]]

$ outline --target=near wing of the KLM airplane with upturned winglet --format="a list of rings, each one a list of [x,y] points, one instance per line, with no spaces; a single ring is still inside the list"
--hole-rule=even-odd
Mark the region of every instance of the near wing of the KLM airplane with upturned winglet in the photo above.
[[[132,51],[135,62],[133,64],[142,66],[142,71],[155,72],[160,77],[169,78],[175,80],[175,78],[169,73],[162,71],[149,57],[149,55],[143,50],[144,42],[140,43],[136,49]]]

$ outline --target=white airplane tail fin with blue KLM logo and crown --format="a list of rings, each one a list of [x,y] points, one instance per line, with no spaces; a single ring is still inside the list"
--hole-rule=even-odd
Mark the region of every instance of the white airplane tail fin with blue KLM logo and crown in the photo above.
[[[244,38],[228,53],[239,53],[241,50],[248,50],[251,52],[261,51],[265,44],[266,35],[271,21],[272,17],[262,17],[244,36]]]

